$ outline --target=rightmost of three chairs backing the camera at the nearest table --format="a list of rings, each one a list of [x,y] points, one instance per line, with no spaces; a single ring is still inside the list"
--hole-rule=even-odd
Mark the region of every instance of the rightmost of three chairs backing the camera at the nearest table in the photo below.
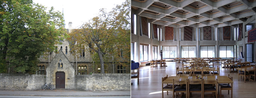
[[[217,91],[218,91],[218,87],[216,87],[216,86],[218,86],[217,84],[218,84],[218,79],[216,79],[216,80],[205,80],[205,81],[203,81],[203,98],[204,98],[204,92],[213,92],[213,93],[215,93],[215,96],[216,96],[216,98],[218,98],[218,96],[217,96]],[[210,85],[209,86],[209,84],[212,84],[212,85]],[[207,85],[207,86],[206,86]]]

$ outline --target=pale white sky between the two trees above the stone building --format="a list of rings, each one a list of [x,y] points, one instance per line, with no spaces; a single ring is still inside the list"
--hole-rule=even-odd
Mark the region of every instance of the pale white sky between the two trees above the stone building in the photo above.
[[[72,28],[78,29],[83,23],[96,17],[99,9],[105,8],[107,12],[110,12],[112,8],[121,5],[125,0],[33,0],[33,2],[49,9],[53,6],[55,11],[62,12],[63,9],[65,28],[68,29],[69,22],[72,22]]]

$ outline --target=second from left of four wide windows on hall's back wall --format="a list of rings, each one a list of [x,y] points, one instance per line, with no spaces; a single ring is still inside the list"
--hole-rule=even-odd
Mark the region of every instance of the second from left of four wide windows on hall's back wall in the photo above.
[[[181,57],[196,57],[196,47],[181,46]]]

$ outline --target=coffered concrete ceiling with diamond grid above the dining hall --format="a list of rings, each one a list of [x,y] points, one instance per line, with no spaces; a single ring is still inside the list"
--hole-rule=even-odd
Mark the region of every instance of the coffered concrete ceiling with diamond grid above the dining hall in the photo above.
[[[131,0],[134,14],[171,27],[223,27],[254,18],[256,0]]]

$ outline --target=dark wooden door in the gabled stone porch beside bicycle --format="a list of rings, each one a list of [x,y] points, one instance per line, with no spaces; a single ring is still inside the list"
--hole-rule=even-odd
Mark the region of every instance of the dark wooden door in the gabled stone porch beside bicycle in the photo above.
[[[65,89],[65,73],[56,72],[56,89]]]

